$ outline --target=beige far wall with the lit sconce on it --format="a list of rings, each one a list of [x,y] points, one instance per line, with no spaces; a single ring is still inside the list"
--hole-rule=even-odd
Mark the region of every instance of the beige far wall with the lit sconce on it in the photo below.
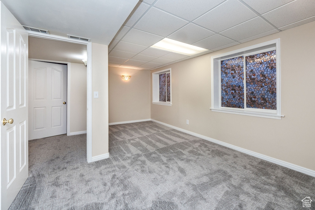
[[[108,67],[109,122],[150,119],[150,71]],[[127,81],[121,75],[130,75]]]

